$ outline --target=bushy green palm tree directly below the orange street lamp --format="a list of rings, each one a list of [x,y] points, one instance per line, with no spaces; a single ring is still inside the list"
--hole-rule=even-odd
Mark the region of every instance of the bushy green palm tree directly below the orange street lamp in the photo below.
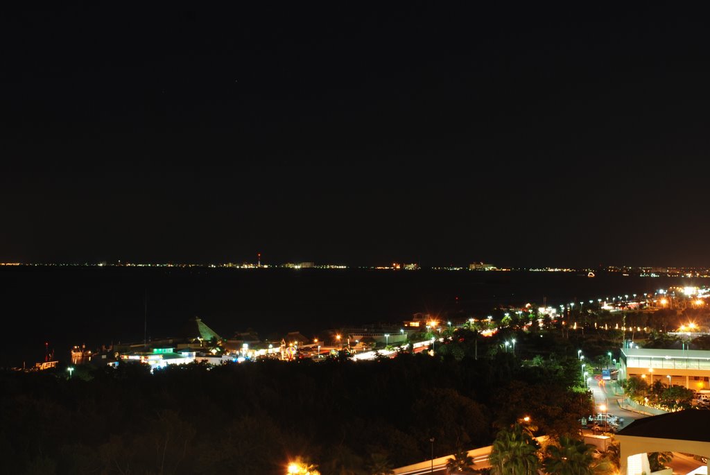
[[[520,424],[503,429],[493,441],[491,463],[493,475],[535,475],[540,466],[537,451],[540,444]]]

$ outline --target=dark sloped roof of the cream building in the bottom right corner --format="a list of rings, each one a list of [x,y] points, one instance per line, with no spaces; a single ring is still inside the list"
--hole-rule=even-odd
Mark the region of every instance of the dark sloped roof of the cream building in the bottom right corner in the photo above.
[[[710,442],[710,410],[681,410],[631,422],[617,435]]]

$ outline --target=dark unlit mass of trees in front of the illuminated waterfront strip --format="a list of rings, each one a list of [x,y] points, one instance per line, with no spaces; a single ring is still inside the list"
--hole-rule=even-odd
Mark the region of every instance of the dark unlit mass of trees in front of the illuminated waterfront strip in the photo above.
[[[443,356],[368,362],[3,373],[0,472],[280,474],[303,457],[324,475],[364,473],[375,460],[428,459],[431,437],[438,457],[491,444],[524,415],[561,435],[589,413],[570,387],[574,357],[476,360],[470,339],[455,343],[461,351],[442,345]]]

